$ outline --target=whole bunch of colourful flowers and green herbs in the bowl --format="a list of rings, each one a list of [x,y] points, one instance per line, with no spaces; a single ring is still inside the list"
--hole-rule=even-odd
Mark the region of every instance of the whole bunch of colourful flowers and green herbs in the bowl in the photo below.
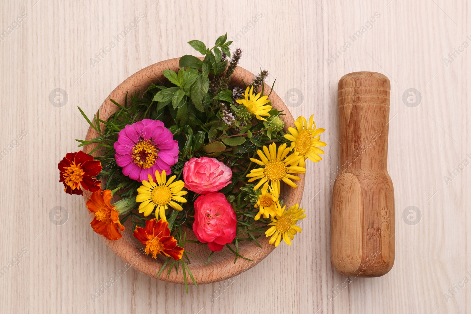
[[[94,147],[90,154],[67,153],[58,164],[66,193],[91,192],[86,205],[96,233],[119,240],[130,220],[144,252],[166,258],[159,274],[180,265],[185,280],[186,271],[193,279],[187,263],[195,256],[187,242],[207,243],[207,263],[224,247],[235,261],[244,258],[238,243],[261,247],[260,236],[291,245],[306,215],[299,204],[284,204],[280,191],[297,188],[305,161],[322,160],[326,145],[312,115],[286,129],[265,93],[267,71],[229,86],[242,50],[231,53],[227,34],[212,48],[188,43],[204,58],[182,56],[178,72],[163,71],[161,85],[123,104],[110,99],[118,110],[107,121],[99,112],[90,121],[79,107],[99,136],[77,140]],[[187,239],[191,232],[196,240]]]

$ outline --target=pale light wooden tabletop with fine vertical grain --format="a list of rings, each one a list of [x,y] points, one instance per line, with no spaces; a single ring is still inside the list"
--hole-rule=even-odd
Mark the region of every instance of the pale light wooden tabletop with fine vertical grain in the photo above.
[[[132,2],[0,4],[1,313],[471,312],[466,1]],[[88,129],[77,106],[91,115],[132,73],[194,54],[188,40],[225,32],[244,50],[244,68],[277,78],[294,116],[314,113],[328,146],[324,161],[309,163],[308,216],[293,245],[187,295],[122,268],[90,228],[82,199],[63,193],[57,162]],[[330,208],[340,166],[337,83],[354,71],[391,81],[397,233],[389,274],[348,280],[331,264]]]

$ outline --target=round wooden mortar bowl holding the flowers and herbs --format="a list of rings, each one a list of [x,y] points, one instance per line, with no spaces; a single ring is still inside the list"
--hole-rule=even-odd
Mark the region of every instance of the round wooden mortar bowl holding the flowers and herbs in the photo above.
[[[162,71],[167,69],[178,71],[179,59],[180,58],[174,58],[161,61],[156,64],[149,65],[146,68],[132,74],[129,78],[127,78],[120,85],[118,85],[118,87],[116,87],[116,89],[114,89],[113,92],[111,92],[111,94],[106,98],[106,100],[100,106],[99,118],[101,120],[107,121],[108,118],[113,115],[118,109],[118,107],[109,100],[110,98],[116,101],[118,104],[124,104],[126,93],[128,91],[130,94],[133,94],[135,90],[145,91],[151,83],[160,82],[160,84],[162,84],[162,82],[165,80]],[[237,67],[234,71],[234,74],[231,76],[230,85],[244,86],[244,82],[251,82],[253,76],[254,75],[251,72],[241,67]],[[259,91],[261,90],[259,89]],[[265,94],[268,95],[270,91],[270,87],[265,85]],[[283,112],[286,114],[280,116],[286,123],[286,125],[294,126],[293,117],[284,102],[281,100],[281,98],[276,95],[275,92],[272,92],[268,99],[271,100],[272,106],[274,108],[277,108],[278,110],[283,110]],[[101,125],[101,128],[103,129],[104,126]],[[286,129],[287,127],[285,127],[285,131]],[[97,131],[90,127],[87,132],[87,137],[85,139],[90,140],[95,137],[98,137]],[[94,146],[92,145],[86,145],[84,146],[83,150],[84,152],[89,153],[93,148]],[[97,156],[98,153],[94,152],[92,155]],[[280,197],[284,200],[284,204],[286,204],[288,207],[296,203],[300,203],[301,201],[302,193],[304,190],[304,174],[300,174],[299,177],[301,178],[301,180],[297,182],[297,189],[293,189],[282,183],[283,187]],[[86,191],[83,196],[84,200],[87,201],[89,199],[90,193]],[[93,217],[94,214],[90,213],[90,218],[93,219]],[[184,283],[183,272],[180,269],[179,273],[177,274],[175,267],[172,268],[169,276],[167,275],[166,268],[158,277],[156,277],[166,258],[159,255],[157,259],[153,259],[146,256],[145,254],[142,254],[141,250],[143,249],[143,245],[132,236],[133,230],[131,230],[132,225],[130,221],[126,221],[124,226],[126,227],[126,230],[123,232],[123,236],[120,240],[112,241],[102,236],[103,241],[105,241],[106,245],[117,256],[119,256],[124,262],[128,263],[134,269],[138,270],[143,274],[160,279],[165,282],[173,282],[180,284]],[[188,231],[187,239],[196,239],[195,235],[193,234],[193,231]],[[235,255],[225,247],[219,252],[214,252],[209,265],[206,265],[205,262],[202,262],[195,257],[191,257],[191,264],[188,264],[188,267],[190,268],[190,271],[192,272],[197,284],[226,280],[237,274],[241,274],[242,272],[255,266],[263,258],[270,254],[271,251],[275,249],[275,246],[272,244],[268,244],[269,239],[269,237],[265,236],[261,236],[258,239],[262,248],[260,248],[253,241],[239,242],[239,253],[245,258],[250,258],[253,261],[237,258],[237,262],[234,263]],[[201,258],[203,261],[207,261],[211,253],[211,250],[206,244],[200,243],[187,243],[185,245],[185,249],[189,252],[192,252],[193,254]],[[193,284],[188,274],[187,282],[189,284]]]

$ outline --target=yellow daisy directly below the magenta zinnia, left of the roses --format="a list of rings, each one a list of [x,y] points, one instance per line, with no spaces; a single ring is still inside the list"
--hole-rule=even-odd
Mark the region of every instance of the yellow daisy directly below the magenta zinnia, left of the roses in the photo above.
[[[140,188],[138,188],[138,195],[136,201],[140,202],[139,212],[144,213],[144,216],[149,216],[155,209],[155,217],[159,220],[159,216],[164,221],[167,221],[165,217],[165,209],[168,209],[170,205],[174,209],[182,210],[183,208],[176,203],[185,203],[187,200],[182,197],[188,193],[188,191],[182,191],[181,189],[185,185],[183,181],[175,181],[177,176],[172,176],[167,180],[165,170],[162,170],[162,174],[155,171],[155,178],[157,182],[154,182],[150,175],[147,175],[149,181],[142,181]],[[172,183],[173,182],[173,183]]]

